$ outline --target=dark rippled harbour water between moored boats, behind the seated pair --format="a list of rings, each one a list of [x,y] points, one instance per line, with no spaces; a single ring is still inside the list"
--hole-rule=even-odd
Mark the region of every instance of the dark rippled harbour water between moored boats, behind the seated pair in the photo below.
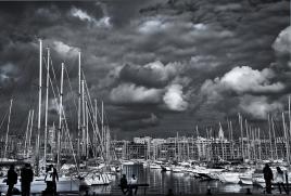
[[[207,187],[212,190],[212,193],[245,193],[246,187],[250,187],[252,192],[258,193],[263,190],[253,186],[241,186],[239,184],[223,184],[218,181],[200,181],[184,173],[162,172],[159,169],[143,168],[142,165],[124,166],[122,173],[117,174],[113,183],[109,186],[93,186],[90,192],[97,194],[112,194],[121,195],[118,187],[121,174],[126,174],[129,180],[132,174],[138,178],[138,183],[149,183],[148,194],[166,194],[168,188],[172,188],[175,194],[204,194]],[[143,188],[139,191],[139,194],[143,194]]]

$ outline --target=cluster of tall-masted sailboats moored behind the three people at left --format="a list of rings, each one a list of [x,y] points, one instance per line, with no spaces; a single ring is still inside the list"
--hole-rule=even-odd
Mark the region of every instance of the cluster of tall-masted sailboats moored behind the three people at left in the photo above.
[[[59,173],[60,180],[58,182],[58,191],[78,191],[79,185],[102,185],[109,184],[112,180],[109,170],[110,154],[110,129],[104,126],[104,106],[102,102],[102,113],[101,113],[101,131],[99,129],[98,115],[99,110],[97,107],[97,100],[94,100],[94,105],[92,104],[90,93],[87,87],[85,74],[81,71],[81,60],[80,52],[78,53],[78,105],[77,105],[77,149],[74,148],[73,139],[71,136],[71,131],[68,128],[64,104],[64,75],[66,71],[64,63],[61,65],[61,79],[60,88],[53,86],[56,82],[55,73],[52,66],[52,60],[50,56],[50,49],[47,50],[47,60],[43,60],[42,55],[42,40],[39,40],[39,83],[38,83],[38,113],[37,113],[37,134],[36,134],[36,147],[33,152],[31,138],[34,129],[35,110],[29,109],[27,117],[26,131],[24,133],[24,146],[23,156],[25,161],[34,162],[35,166],[35,180],[31,183],[31,193],[41,192],[46,188],[45,174],[47,165],[55,165]],[[45,96],[45,126],[42,128],[42,63],[47,64],[46,67],[46,96]],[[53,77],[51,77],[51,74]],[[66,73],[67,74],[67,73]],[[67,75],[68,77],[68,75]],[[69,78],[68,78],[69,83]],[[71,83],[69,83],[71,84]],[[49,130],[49,92],[53,92],[52,101],[58,105],[59,121],[56,126],[56,142],[55,151],[48,152],[48,130]],[[71,86],[72,90],[72,86]],[[56,93],[59,96],[56,95]],[[9,119],[8,119],[8,130],[5,135],[5,144],[9,139],[10,129],[10,116],[12,109],[13,100],[10,102]],[[54,127],[54,122],[53,122]],[[91,128],[91,129],[90,129]],[[42,132],[43,130],[43,132]],[[90,130],[92,133],[90,133]],[[100,133],[101,132],[101,133]],[[43,135],[43,138],[42,138]],[[66,140],[63,146],[63,141]],[[41,144],[43,142],[43,154],[41,151]],[[64,164],[62,159],[63,148],[68,147],[72,159],[71,164]],[[76,152],[75,152],[76,151]],[[8,145],[4,148],[4,158],[7,158]],[[92,152],[90,155],[90,152]],[[52,154],[52,158],[49,158],[49,154]],[[88,159],[90,156],[94,159],[91,165],[89,165]],[[99,157],[99,160],[97,158]],[[20,181],[16,184],[20,188]],[[3,180],[0,180],[0,191],[5,192],[7,185]]]

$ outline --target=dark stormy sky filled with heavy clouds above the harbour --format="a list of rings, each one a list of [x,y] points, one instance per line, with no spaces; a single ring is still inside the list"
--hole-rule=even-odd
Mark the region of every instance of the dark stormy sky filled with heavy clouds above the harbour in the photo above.
[[[43,57],[46,48],[51,51],[54,84],[61,63],[66,66],[72,132],[78,51],[90,95],[99,106],[104,102],[114,138],[191,135],[197,125],[203,134],[219,121],[226,128],[226,119],[236,125],[238,113],[264,127],[268,114],[288,108],[289,12],[287,0],[0,2],[1,119],[13,97],[11,131],[21,134],[28,110],[37,110],[41,38]],[[58,122],[56,108],[50,89],[50,125]]]

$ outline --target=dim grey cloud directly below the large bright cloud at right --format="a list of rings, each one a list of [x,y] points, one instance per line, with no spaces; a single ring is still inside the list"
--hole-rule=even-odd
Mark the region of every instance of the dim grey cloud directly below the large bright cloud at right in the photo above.
[[[266,119],[269,113],[282,110],[279,102],[270,102],[267,96],[244,95],[240,100],[239,107],[256,119]]]

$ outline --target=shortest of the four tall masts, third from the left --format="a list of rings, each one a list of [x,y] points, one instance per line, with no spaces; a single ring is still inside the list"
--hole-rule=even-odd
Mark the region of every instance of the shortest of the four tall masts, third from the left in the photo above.
[[[60,90],[60,105],[59,105],[59,129],[58,129],[58,167],[60,168],[61,156],[61,131],[62,131],[62,113],[63,113],[63,83],[64,83],[64,63],[62,63],[61,71],[61,90]]]

